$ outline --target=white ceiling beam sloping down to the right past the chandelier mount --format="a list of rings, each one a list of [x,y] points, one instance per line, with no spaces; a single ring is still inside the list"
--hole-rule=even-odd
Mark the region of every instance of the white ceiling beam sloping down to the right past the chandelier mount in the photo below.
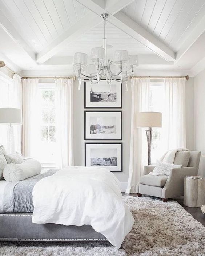
[[[95,12],[97,15],[101,15],[101,13],[107,11],[110,13],[110,10],[112,10],[112,13],[115,13],[116,9],[114,10],[113,6],[117,8],[117,4],[112,5],[110,9],[104,9],[101,7],[101,5],[97,4],[97,0],[77,0],[79,3],[83,4],[85,7],[90,9],[91,11]],[[116,2],[116,1],[112,1]],[[122,3],[122,1],[118,1],[119,3]],[[128,3],[128,1],[125,1]],[[131,1],[130,1],[131,2]],[[122,5],[121,5],[122,6]],[[123,8],[123,7],[122,7]],[[119,9],[118,9],[119,11]],[[146,31],[144,28],[142,28],[140,25],[138,25],[136,22],[134,22],[132,19],[130,19],[128,16],[126,16],[123,12],[119,11],[115,15],[112,15],[110,13],[110,16],[108,18],[108,21],[124,31],[126,34],[132,36],[132,38],[138,40],[140,43],[144,44],[144,46],[148,47],[150,50],[152,50],[154,53],[159,55],[161,58],[167,60],[167,61],[174,61],[175,60],[175,53],[167,47],[165,44],[160,42],[157,38],[155,38],[153,35],[151,35],[148,31]]]

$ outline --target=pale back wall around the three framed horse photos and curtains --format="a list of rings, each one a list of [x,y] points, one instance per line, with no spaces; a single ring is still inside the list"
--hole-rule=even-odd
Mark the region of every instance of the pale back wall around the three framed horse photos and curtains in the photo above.
[[[81,90],[77,90],[77,80],[74,86],[74,157],[75,165],[84,165],[84,143],[93,142],[84,140],[84,84]],[[193,78],[186,81],[186,139],[187,147],[190,150],[194,149],[194,86]],[[98,109],[87,109],[98,110]],[[100,109],[103,110],[103,109]],[[109,109],[106,109],[109,110]],[[115,109],[110,109],[115,110]],[[114,173],[120,180],[122,190],[125,191],[129,173],[129,146],[130,146],[130,113],[131,113],[131,91],[128,84],[128,92],[125,91],[125,86],[122,85],[122,141],[123,142],[123,172]],[[102,142],[102,141],[95,141]],[[110,141],[116,142],[116,141]]]

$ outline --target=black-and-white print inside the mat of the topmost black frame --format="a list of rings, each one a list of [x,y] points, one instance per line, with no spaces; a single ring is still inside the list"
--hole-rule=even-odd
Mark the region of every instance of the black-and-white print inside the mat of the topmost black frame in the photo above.
[[[117,102],[116,84],[93,85],[90,97],[91,102]]]

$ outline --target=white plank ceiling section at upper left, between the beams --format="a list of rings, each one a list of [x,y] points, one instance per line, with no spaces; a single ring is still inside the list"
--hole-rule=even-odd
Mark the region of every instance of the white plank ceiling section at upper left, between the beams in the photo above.
[[[39,52],[89,10],[73,0],[1,0],[0,9],[24,40]]]

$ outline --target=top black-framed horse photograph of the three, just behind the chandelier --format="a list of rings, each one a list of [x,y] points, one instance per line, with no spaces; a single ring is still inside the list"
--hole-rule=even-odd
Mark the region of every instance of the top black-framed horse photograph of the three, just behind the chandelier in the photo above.
[[[122,108],[122,84],[101,79],[97,84],[85,82],[85,108]]]

